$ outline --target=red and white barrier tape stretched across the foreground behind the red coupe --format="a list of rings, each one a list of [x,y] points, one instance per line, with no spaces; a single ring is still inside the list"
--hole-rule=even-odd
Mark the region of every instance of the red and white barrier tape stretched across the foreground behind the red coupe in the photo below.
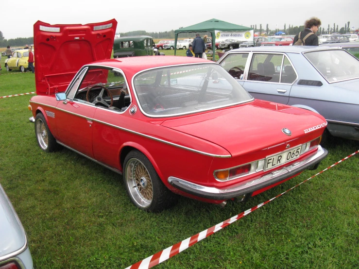
[[[147,257],[146,259],[139,261],[129,267],[127,267],[126,269],[149,269],[152,268],[158,264],[160,264],[161,262],[164,262],[166,260],[168,260],[169,258],[173,257],[174,255],[177,255],[180,252],[183,252],[184,250],[188,249],[190,246],[193,246],[195,243],[201,241],[202,239],[205,239],[206,237],[208,237],[209,235],[213,235],[214,233],[222,230],[222,228],[228,226],[229,224],[243,218],[244,216],[247,216],[249,213],[252,213],[253,211],[255,211],[256,209],[258,209],[259,207],[265,205],[266,203],[272,202],[275,198],[278,198],[280,196],[282,196],[283,194],[289,192],[290,190],[292,190],[293,188],[307,182],[308,180],[312,179],[313,177],[323,173],[324,171],[336,166],[337,164],[341,163],[342,161],[345,161],[346,159],[354,156],[355,154],[359,153],[359,151],[355,151],[354,153],[350,154],[349,156],[345,157],[344,159],[340,160],[339,162],[336,162],[335,164],[331,165],[328,168],[325,168],[324,170],[320,171],[319,173],[315,174],[314,176],[306,179],[305,181],[303,181],[302,183],[299,183],[298,185],[295,185],[294,187],[290,188],[289,190],[286,190],[285,192],[278,194],[277,196],[275,196],[274,198],[266,201],[266,202],[262,202],[258,205],[256,205],[255,207],[252,207],[230,219],[224,220],[221,223],[218,223],[215,226],[212,226],[209,229],[206,229],[205,231],[202,231],[201,233],[197,234],[197,235],[193,235],[191,237],[188,237],[187,239],[165,249],[162,250],[160,252],[157,252],[156,254]]]

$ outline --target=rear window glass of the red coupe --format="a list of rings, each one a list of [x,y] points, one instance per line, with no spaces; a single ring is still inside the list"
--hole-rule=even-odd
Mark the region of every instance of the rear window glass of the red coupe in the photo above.
[[[169,117],[253,99],[217,64],[164,67],[144,71],[134,78],[142,111],[152,117]]]

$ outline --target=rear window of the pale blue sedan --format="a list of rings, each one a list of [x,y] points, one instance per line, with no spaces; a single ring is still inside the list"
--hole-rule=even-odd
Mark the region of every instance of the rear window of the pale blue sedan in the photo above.
[[[359,78],[359,60],[345,50],[319,50],[304,54],[328,82]]]

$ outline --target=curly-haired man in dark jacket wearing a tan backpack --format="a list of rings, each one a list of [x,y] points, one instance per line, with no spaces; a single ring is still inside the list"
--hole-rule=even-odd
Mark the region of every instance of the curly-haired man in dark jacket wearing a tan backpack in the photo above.
[[[293,46],[319,46],[318,36],[315,34],[322,22],[319,18],[311,17],[304,23],[306,29],[294,37]]]

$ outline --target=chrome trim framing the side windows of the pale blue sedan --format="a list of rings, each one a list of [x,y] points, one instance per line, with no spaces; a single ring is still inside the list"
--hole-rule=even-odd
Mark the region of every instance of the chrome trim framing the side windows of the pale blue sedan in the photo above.
[[[241,51],[241,50],[231,51],[231,52],[226,53],[225,55],[226,55],[226,57],[227,57],[227,55],[229,55],[229,54],[233,54],[233,53],[243,53],[243,52],[247,52],[247,51],[245,51],[245,50],[243,50],[243,51]],[[248,82],[281,84],[281,85],[293,85],[293,84],[295,84],[295,83],[298,81],[298,79],[299,79],[298,72],[297,72],[297,70],[295,69],[293,63],[291,62],[291,58],[288,56],[287,52],[275,52],[275,51],[248,51],[248,52],[250,52],[250,55],[248,56],[248,59],[247,59],[247,63],[246,63],[245,70],[244,70],[244,74],[243,74],[243,79],[242,79],[242,80],[237,79],[237,80],[239,80],[239,81],[248,81]],[[291,51],[289,51],[288,53],[301,54],[301,52],[291,52]],[[291,66],[293,67],[294,72],[295,72],[297,78],[296,78],[292,83],[281,83],[281,82],[269,82],[269,81],[254,81],[254,80],[248,80],[249,67],[250,67],[250,65],[251,65],[252,58],[253,58],[254,54],[282,54],[282,55],[284,55],[285,57],[287,57],[288,61],[291,63]],[[220,60],[223,61],[224,58],[225,58],[225,57],[222,57]],[[248,60],[250,60],[250,61],[249,61],[249,64],[248,64]],[[217,63],[218,63],[218,64],[221,64],[222,61],[219,61],[219,62],[217,62]],[[283,66],[283,61],[284,61],[284,60],[282,60],[282,66]],[[247,66],[247,64],[248,64],[248,66]],[[282,73],[282,66],[281,66],[281,73]],[[280,74],[280,76],[281,76],[281,74]],[[279,80],[279,81],[280,81],[280,80]]]

